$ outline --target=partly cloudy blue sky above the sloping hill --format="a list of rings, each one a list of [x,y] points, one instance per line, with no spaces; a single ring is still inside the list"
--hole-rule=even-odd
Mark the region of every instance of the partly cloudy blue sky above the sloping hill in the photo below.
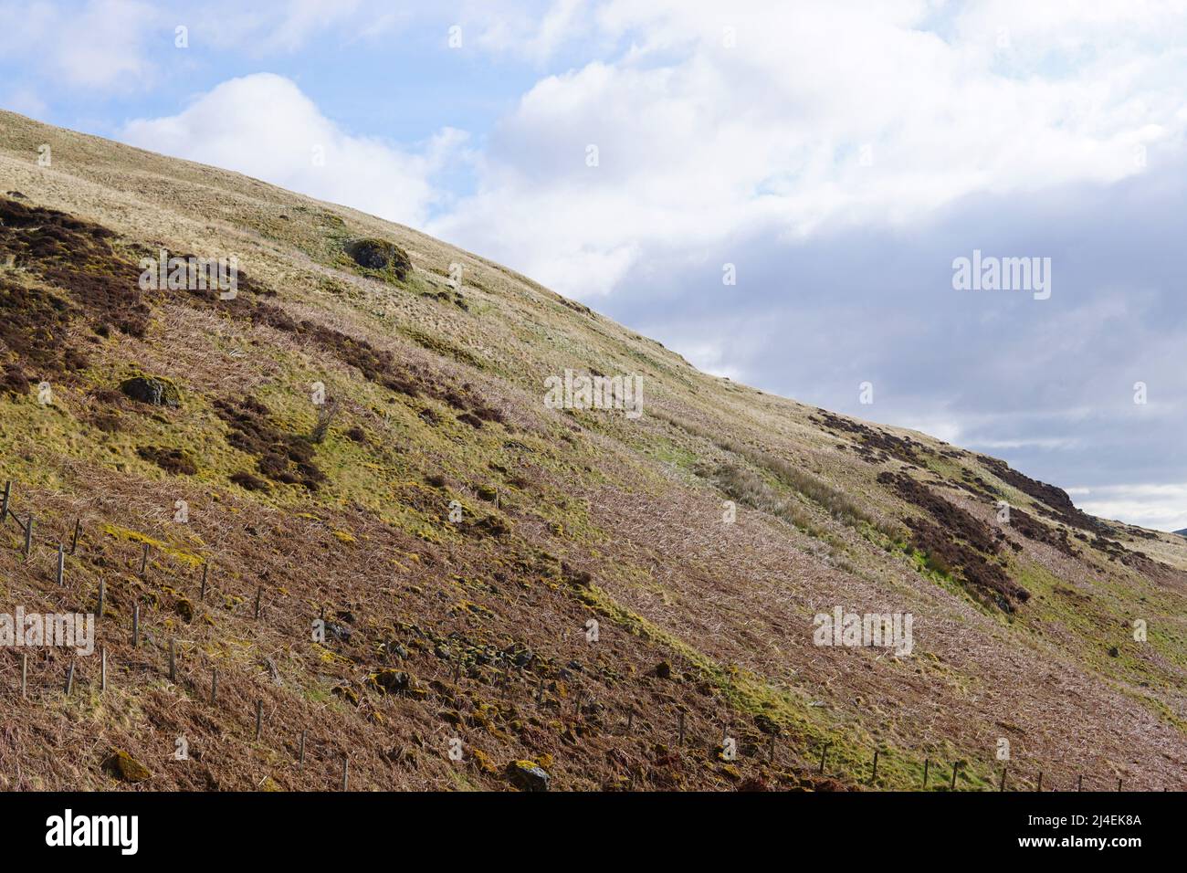
[[[410,224],[706,372],[1187,527],[1187,0],[0,0],[0,23],[2,108]]]

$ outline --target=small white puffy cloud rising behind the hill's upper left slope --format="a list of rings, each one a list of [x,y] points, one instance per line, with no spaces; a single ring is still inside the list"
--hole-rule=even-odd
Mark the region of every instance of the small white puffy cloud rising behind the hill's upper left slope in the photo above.
[[[132,121],[121,139],[419,227],[439,200],[432,175],[458,157],[465,135],[444,128],[414,152],[355,137],[290,80],[256,74],[177,115]]]

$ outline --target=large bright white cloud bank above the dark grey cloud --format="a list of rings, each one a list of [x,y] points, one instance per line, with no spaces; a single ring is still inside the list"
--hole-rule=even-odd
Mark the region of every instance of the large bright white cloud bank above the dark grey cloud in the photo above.
[[[629,48],[538,82],[431,230],[588,297],[730,235],[906,224],[970,194],[1141,172],[1142,148],[1187,128],[1183,5],[1050,6],[1035,25],[1015,2],[611,0],[598,34]],[[615,268],[591,274],[598,252]]]

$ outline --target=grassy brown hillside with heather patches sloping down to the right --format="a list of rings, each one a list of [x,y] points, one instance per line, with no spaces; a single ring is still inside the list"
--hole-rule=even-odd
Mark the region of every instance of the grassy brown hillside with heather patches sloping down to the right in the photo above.
[[[142,290],[160,249],[237,293]],[[0,652],[2,787],[977,789],[1001,740],[1014,787],[1187,787],[1187,542],[999,460],[11,113],[0,302],[0,612],[104,597],[94,654]],[[566,371],[642,415],[553,409]],[[815,645],[838,608],[910,653]]]

